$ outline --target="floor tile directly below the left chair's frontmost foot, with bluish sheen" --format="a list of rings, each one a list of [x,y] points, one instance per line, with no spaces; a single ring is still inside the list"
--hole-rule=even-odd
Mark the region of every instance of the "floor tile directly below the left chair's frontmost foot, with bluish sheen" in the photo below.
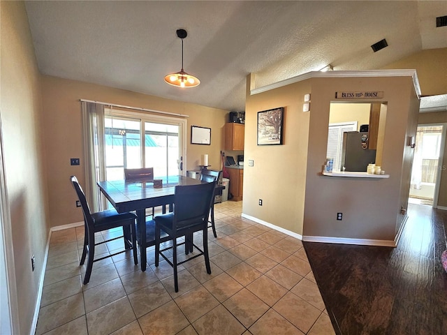
[[[119,278],[113,279],[94,288],[85,290],[85,311],[89,313],[126,296],[126,291]]]

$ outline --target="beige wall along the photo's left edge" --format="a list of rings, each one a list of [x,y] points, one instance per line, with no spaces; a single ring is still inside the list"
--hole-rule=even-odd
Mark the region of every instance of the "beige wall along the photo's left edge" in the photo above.
[[[39,73],[24,3],[1,1],[0,8],[1,131],[20,322],[17,334],[29,334],[49,232],[45,219],[45,161],[39,129]],[[34,272],[31,271],[33,254]]]

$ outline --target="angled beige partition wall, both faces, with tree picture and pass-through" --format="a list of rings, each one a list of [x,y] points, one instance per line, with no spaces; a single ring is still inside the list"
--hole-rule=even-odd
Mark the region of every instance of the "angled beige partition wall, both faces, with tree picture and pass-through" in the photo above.
[[[336,91],[360,88],[384,91],[382,100],[359,102],[388,104],[382,164],[391,177],[323,177],[330,103]],[[312,93],[311,111],[302,112],[307,93]],[[254,159],[254,167],[244,169],[244,214],[306,236],[393,241],[408,198],[402,178],[408,178],[410,162],[405,158],[402,164],[402,157],[405,120],[416,133],[418,105],[413,100],[418,103],[411,76],[312,78],[248,94],[245,160]],[[274,107],[285,107],[284,144],[257,146],[256,112]],[[258,199],[264,200],[262,207]],[[343,221],[336,221],[337,212],[344,214]]]

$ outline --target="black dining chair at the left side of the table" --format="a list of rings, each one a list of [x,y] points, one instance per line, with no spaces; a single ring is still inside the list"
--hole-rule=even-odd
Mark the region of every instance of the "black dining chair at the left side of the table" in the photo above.
[[[104,258],[109,258],[119,253],[126,252],[127,246],[131,246],[133,249],[133,262],[135,265],[138,264],[138,255],[137,255],[137,237],[135,231],[135,220],[136,216],[133,213],[118,213],[115,209],[108,209],[105,211],[98,211],[96,213],[91,213],[89,209],[89,204],[87,204],[87,199],[85,198],[85,193],[82,191],[82,187],[80,186],[78,179],[75,176],[71,176],[70,178],[71,184],[73,184],[73,188],[75,188],[76,194],[78,195],[78,199],[80,201],[82,212],[84,214],[84,247],[82,248],[82,257],[80,261],[80,265],[83,265],[85,262],[85,258],[87,257],[87,269],[85,271],[84,276],[84,285],[89,283],[91,269],[93,268],[93,263],[98,260],[103,260]],[[97,242],[95,241],[95,232],[102,232],[104,230],[109,230],[112,228],[122,227],[123,235],[119,237],[115,237],[112,239],[108,239],[105,241]],[[126,231],[131,232],[131,240],[129,240],[129,234],[126,234]],[[109,241],[113,241],[115,239],[124,238],[124,250],[118,251],[117,253],[112,253],[110,255],[104,256],[102,258],[94,259],[95,255],[95,246],[99,244],[104,244]]]

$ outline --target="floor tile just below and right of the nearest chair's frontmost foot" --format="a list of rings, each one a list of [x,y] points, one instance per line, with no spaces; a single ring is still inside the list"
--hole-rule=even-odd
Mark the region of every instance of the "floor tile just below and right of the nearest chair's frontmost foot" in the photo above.
[[[219,301],[202,285],[175,298],[175,303],[182,310],[189,322],[196,321],[219,305]]]

